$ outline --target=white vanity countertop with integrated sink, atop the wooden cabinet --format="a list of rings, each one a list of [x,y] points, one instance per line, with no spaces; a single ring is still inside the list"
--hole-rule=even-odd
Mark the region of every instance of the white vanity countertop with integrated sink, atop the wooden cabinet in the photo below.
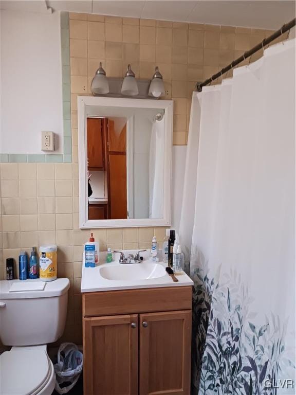
[[[128,254],[136,254],[137,250],[128,250],[124,251],[125,256]],[[114,253],[114,261],[110,263],[106,263],[106,252],[100,253],[100,263],[96,265],[96,267],[85,267],[84,266],[84,258],[82,265],[82,276],[81,276],[81,292],[99,292],[99,291],[118,291],[118,290],[129,290],[129,289],[138,289],[138,288],[159,288],[164,286],[191,286],[193,285],[193,281],[187,274],[182,274],[176,276],[178,278],[178,282],[173,282],[172,278],[165,272],[165,263],[158,262],[160,266],[155,265],[155,263],[149,260],[150,252],[141,253],[143,256],[143,261],[141,263],[119,263],[119,254]],[[142,265],[142,266],[141,266]],[[157,278],[147,278],[147,279],[139,279],[133,278],[133,272],[136,274],[141,273],[145,270],[149,270],[151,265],[152,273],[159,273],[159,277]],[[154,266],[153,266],[154,265]],[[102,276],[102,273],[122,273],[125,271],[123,266],[128,266],[128,276],[127,279],[121,280],[110,280],[106,279]],[[155,268],[155,269],[154,269]],[[103,269],[103,271],[101,270]],[[124,276],[123,276],[124,277]],[[153,276],[152,276],[153,277]]]

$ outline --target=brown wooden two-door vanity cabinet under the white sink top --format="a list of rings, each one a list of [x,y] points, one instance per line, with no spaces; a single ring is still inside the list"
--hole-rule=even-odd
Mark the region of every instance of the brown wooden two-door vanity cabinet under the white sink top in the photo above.
[[[83,294],[84,395],[189,395],[191,297],[190,286]]]

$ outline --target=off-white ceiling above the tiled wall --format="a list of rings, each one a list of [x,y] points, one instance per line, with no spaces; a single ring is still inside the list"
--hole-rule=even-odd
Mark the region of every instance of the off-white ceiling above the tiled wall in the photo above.
[[[178,22],[278,29],[295,17],[293,0],[2,0],[2,9],[72,11]]]

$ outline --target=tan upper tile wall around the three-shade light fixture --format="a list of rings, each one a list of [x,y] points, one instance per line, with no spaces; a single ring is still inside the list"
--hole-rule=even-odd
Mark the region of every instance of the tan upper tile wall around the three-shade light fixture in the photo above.
[[[131,63],[137,78],[151,78],[158,65],[167,89],[165,98],[173,99],[175,104],[173,143],[186,145],[195,83],[207,79],[270,33],[231,26],[70,13],[75,158],[77,95],[91,95],[91,80],[100,61],[110,77],[123,77]],[[253,56],[251,61],[261,55]]]

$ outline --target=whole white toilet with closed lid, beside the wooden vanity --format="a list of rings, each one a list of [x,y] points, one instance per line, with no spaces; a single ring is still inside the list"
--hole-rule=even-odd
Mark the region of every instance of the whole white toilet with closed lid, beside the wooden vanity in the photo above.
[[[50,395],[55,374],[46,345],[65,328],[69,279],[0,281],[0,393]]]

